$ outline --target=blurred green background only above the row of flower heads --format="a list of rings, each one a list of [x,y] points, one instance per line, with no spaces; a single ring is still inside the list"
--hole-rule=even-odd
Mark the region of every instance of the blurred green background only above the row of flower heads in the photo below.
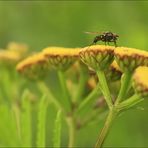
[[[84,31],[112,31],[120,46],[147,49],[147,9],[146,1],[1,1],[0,45],[81,47],[94,37]]]

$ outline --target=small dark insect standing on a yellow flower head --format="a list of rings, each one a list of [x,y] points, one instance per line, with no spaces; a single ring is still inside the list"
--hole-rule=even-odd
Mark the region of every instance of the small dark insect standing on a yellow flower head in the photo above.
[[[117,41],[117,39],[118,39],[119,36],[117,34],[115,34],[115,33],[112,33],[110,31],[103,32],[101,34],[99,32],[85,32],[85,33],[87,33],[87,34],[98,34],[94,38],[93,43],[91,45],[96,44],[98,41],[102,41],[102,42],[105,43],[105,45],[106,44],[109,45],[110,42],[113,42],[114,45],[117,47],[116,41]]]

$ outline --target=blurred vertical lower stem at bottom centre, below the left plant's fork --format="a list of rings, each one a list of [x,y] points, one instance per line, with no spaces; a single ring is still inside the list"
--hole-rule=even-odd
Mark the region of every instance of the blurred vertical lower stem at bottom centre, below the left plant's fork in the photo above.
[[[68,117],[67,118],[67,124],[69,127],[69,143],[68,143],[68,148],[74,147],[75,143],[75,124],[74,124],[74,118],[73,117]]]

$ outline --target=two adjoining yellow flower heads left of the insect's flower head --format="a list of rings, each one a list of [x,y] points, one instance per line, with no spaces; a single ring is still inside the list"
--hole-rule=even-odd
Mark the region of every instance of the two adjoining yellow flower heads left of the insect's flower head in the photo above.
[[[78,58],[78,49],[48,47],[24,59],[17,65],[17,71],[31,78],[44,78],[50,68],[68,69]]]

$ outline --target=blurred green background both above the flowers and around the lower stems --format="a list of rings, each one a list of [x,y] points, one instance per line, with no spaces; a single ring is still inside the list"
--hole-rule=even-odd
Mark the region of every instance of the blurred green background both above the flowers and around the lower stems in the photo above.
[[[34,51],[51,45],[83,47],[94,37],[85,31],[112,31],[120,36],[119,46],[148,49],[146,1],[0,1],[0,20],[1,48],[10,41]],[[129,110],[116,119],[105,146],[148,147],[148,101],[141,106],[144,110]],[[93,146],[102,125],[80,130],[76,145]]]

